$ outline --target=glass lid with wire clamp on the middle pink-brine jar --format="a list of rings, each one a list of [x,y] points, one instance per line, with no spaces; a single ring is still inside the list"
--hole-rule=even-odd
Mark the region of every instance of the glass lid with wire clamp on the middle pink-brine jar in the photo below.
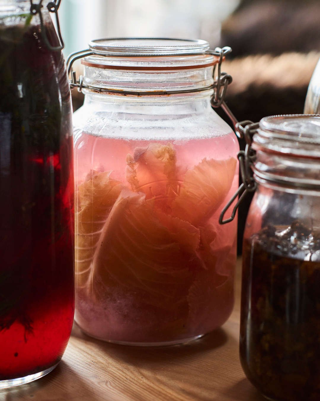
[[[155,95],[178,95],[183,93],[192,93],[200,91],[214,90],[212,106],[223,108],[235,124],[235,119],[228,107],[224,103],[224,97],[228,84],[232,78],[226,73],[221,73],[221,63],[227,53],[230,53],[230,47],[222,49],[216,48],[210,50],[209,44],[203,40],[191,39],[172,39],[172,38],[106,38],[97,39],[89,43],[89,48],[84,51],[72,53],[68,57],[68,74],[71,73],[70,86],[91,91],[104,93],[116,93],[131,96],[155,96]],[[111,70],[108,79],[88,79],[85,75],[76,77],[75,71],[72,71],[74,61],[82,59],[82,64],[88,68],[96,69],[92,71],[92,77],[99,73]],[[88,67],[88,68],[87,68]],[[217,67],[217,69],[216,69]],[[148,89],[147,85],[134,85],[132,90],[130,85],[124,87],[115,87],[121,82],[122,77],[116,75],[115,71],[123,70],[126,72],[126,79],[131,79],[134,83],[136,77],[129,78],[130,71],[146,71],[146,74],[154,71],[156,73],[177,73],[183,71],[194,71],[201,69],[210,69],[203,73],[204,79],[200,79],[198,85],[186,85],[182,87],[176,81],[170,82],[170,85],[154,85]],[[99,69],[99,70],[98,70]],[[212,71],[213,70],[213,71]],[[104,73],[107,75],[107,73]],[[192,72],[190,72],[190,77]],[[114,76],[116,79],[113,79]],[[173,78],[173,77],[172,77]],[[142,78],[140,77],[140,80]],[[176,78],[177,79],[177,78]],[[181,81],[181,79],[180,79]],[[128,81],[126,81],[128,82]],[[118,85],[121,86],[121,85]],[[127,87],[126,87],[127,86]],[[158,88],[156,88],[158,86]]]

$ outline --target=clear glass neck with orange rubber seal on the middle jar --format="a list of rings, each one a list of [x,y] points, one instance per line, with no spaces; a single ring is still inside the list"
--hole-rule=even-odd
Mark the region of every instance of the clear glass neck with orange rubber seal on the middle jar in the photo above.
[[[197,91],[212,87],[212,55],[107,57],[91,55],[84,64],[84,87],[127,92]]]

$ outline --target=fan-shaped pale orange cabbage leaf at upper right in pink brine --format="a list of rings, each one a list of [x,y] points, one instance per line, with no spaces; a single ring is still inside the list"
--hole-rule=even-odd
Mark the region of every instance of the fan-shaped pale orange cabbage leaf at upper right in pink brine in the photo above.
[[[172,216],[198,227],[208,220],[228,194],[236,171],[236,159],[207,160],[187,170]]]

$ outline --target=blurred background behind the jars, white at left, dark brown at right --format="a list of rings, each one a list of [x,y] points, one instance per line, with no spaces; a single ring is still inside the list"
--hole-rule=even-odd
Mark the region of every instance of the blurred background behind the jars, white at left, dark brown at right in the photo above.
[[[232,47],[222,69],[233,77],[226,103],[239,121],[303,113],[320,57],[318,0],[63,0],[59,14],[65,56],[102,37],[199,38],[213,49]],[[72,95],[77,109],[83,95]],[[239,210],[239,253],[250,201]]]

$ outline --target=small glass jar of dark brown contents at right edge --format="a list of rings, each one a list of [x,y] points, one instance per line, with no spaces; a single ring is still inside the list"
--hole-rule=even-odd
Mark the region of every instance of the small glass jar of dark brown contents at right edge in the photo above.
[[[243,243],[240,359],[268,399],[320,399],[320,117],[266,117]]]

